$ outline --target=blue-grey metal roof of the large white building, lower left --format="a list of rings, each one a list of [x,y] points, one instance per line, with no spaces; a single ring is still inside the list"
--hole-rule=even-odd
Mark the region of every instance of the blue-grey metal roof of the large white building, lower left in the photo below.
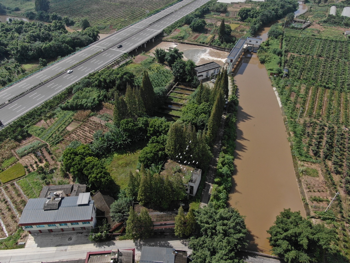
[[[77,205],[78,196],[63,197],[55,210],[43,210],[47,198],[31,198],[23,209],[19,224],[39,224],[47,222],[89,221],[93,211],[93,201]]]

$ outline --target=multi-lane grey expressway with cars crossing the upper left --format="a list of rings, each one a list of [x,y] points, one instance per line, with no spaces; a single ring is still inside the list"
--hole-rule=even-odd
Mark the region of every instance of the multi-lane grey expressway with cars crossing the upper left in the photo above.
[[[209,0],[183,0],[163,11],[125,27],[106,38],[96,41],[79,52],[15,83],[0,91],[0,105],[28,89],[44,82],[40,87],[30,90],[19,99],[7,102],[0,108],[0,120],[6,126],[29,110],[55,96],[66,87],[72,85],[84,76],[101,69],[107,63],[119,58],[160,34],[164,28],[193,12]],[[190,3],[191,2],[191,3]],[[189,4],[190,3],[190,4]],[[122,48],[117,48],[122,45]],[[94,55],[95,54],[95,55]],[[94,56],[92,56],[94,55]],[[78,66],[78,62],[85,60]],[[73,67],[72,67],[73,66]],[[67,69],[73,72],[66,74]],[[48,80],[62,72],[58,77]],[[45,80],[48,80],[45,82]],[[3,127],[4,127],[3,126]]]

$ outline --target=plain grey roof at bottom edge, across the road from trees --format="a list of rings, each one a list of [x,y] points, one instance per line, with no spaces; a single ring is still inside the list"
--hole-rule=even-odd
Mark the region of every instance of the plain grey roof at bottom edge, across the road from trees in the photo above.
[[[175,254],[172,248],[142,247],[139,263],[163,262],[174,263]]]

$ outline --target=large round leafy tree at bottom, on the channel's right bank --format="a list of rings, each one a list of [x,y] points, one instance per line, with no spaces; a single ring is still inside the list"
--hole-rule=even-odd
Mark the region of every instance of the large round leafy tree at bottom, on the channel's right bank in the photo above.
[[[337,235],[334,228],[313,224],[303,218],[300,211],[283,209],[274,225],[267,230],[273,254],[288,263],[323,262],[327,253],[335,250]]]

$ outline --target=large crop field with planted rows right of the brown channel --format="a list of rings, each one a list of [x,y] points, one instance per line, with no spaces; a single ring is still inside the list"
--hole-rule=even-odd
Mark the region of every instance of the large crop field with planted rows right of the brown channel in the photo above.
[[[287,29],[283,38],[281,67],[288,69],[288,75],[271,80],[293,135],[292,154],[297,158],[302,199],[311,217],[325,220],[321,215],[339,191],[329,213],[348,220],[350,44],[344,36],[330,39],[307,31],[301,35],[295,32],[299,31]],[[348,251],[348,227],[341,221],[334,224],[342,232],[339,247]]]

